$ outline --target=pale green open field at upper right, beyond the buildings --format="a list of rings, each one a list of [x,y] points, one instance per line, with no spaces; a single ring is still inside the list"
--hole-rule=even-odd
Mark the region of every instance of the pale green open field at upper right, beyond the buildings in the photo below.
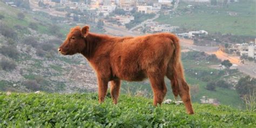
[[[188,30],[256,35],[255,1],[240,1],[223,7],[199,4],[194,5],[194,9],[187,8],[187,5],[181,2],[177,9],[179,14],[161,15],[156,21]],[[227,12],[235,12],[237,15],[230,16]]]

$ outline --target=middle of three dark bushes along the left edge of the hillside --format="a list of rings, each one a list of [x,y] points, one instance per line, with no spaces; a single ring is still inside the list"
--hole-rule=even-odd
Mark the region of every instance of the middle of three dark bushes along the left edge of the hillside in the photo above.
[[[18,55],[19,55],[19,52],[18,52],[16,46],[13,46],[13,45],[2,46],[0,48],[0,53],[2,53],[5,56],[14,58],[14,59],[17,59]]]

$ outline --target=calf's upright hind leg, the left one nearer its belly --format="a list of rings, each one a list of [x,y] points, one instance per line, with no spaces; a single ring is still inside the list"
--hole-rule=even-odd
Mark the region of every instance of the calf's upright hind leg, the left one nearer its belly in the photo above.
[[[166,95],[167,89],[164,83],[164,75],[162,72],[148,72],[147,76],[150,79],[151,87],[154,95],[154,106],[161,104]]]

